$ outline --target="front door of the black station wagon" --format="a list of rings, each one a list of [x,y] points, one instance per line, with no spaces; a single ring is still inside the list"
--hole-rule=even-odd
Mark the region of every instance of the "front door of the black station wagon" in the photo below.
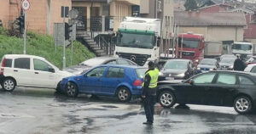
[[[212,81],[215,75],[216,73],[214,72],[197,75],[190,79],[193,83],[183,84],[183,87],[181,87],[183,100],[187,103],[204,104],[207,90],[212,88]]]

